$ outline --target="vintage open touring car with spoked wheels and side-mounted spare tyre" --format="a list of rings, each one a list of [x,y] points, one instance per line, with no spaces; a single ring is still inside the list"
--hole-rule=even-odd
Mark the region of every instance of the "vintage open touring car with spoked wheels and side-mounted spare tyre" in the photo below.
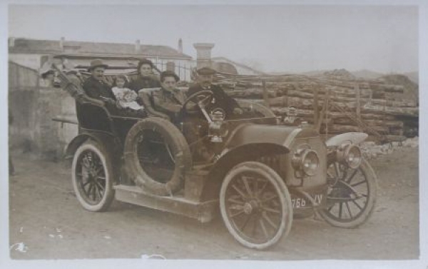
[[[184,115],[202,111],[205,121],[172,123],[151,109],[146,118],[116,115],[70,76],[59,78],[78,108],[78,136],[66,156],[86,210],[107,210],[116,199],[208,222],[220,208],[233,238],[255,249],[287,235],[299,212],[355,228],[373,211],[377,179],[358,146],[365,133],[323,141],[309,125],[282,126],[269,109],[248,101],[239,102],[239,118],[209,114],[210,91],[183,105]],[[140,92],[146,108],[151,91]],[[199,129],[211,158],[195,156],[200,143],[185,137]]]

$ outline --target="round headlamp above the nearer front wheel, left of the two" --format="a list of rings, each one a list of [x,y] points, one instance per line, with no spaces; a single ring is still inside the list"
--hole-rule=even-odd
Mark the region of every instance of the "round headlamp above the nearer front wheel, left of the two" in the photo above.
[[[305,173],[306,176],[314,176],[320,167],[320,158],[318,158],[317,152],[312,149],[297,150],[292,157],[292,166]]]

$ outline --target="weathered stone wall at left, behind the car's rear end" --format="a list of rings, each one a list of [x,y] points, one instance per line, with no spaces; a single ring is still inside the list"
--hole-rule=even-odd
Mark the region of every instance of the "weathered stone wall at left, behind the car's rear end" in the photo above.
[[[59,88],[12,88],[9,111],[14,122],[9,128],[9,146],[41,158],[61,158],[66,144],[76,136],[77,126],[52,119],[66,113],[75,115],[70,98]]]

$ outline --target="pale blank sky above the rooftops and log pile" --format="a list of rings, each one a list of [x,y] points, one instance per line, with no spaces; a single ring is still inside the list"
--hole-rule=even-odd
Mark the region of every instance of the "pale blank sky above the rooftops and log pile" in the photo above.
[[[193,44],[267,72],[418,70],[416,6],[9,5],[9,36]]]

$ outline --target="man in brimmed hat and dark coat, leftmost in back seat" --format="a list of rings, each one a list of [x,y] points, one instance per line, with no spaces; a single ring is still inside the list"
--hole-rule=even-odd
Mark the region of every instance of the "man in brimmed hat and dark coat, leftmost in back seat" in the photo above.
[[[107,67],[100,59],[91,61],[91,66],[88,68],[88,72],[91,72],[91,77],[83,83],[83,90],[91,98],[105,101],[109,105],[116,105],[116,97],[111,91],[111,84],[108,83],[104,76],[104,71]]]

